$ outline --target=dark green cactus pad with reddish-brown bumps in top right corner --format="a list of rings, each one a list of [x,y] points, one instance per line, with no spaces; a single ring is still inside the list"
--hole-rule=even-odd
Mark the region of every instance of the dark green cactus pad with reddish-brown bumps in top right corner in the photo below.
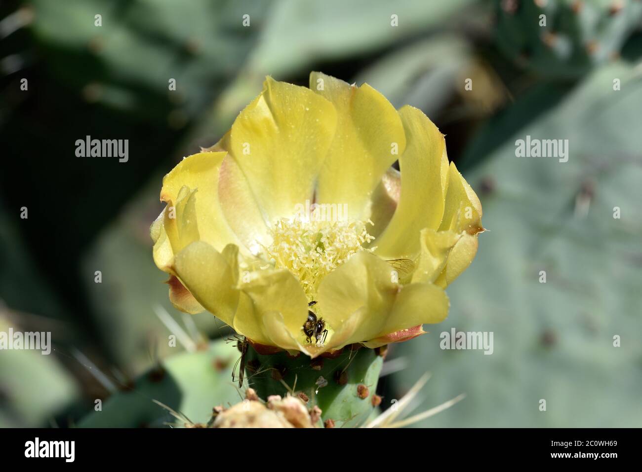
[[[495,0],[499,49],[542,76],[578,78],[639,28],[638,0]]]

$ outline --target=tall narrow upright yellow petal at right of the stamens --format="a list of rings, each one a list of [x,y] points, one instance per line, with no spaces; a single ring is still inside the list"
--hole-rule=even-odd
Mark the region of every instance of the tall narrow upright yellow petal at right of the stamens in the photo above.
[[[385,232],[373,242],[386,259],[414,259],[420,250],[419,232],[438,228],[444,214],[446,142],[421,110],[404,106],[399,116],[406,132],[406,151],[399,158],[401,198]]]

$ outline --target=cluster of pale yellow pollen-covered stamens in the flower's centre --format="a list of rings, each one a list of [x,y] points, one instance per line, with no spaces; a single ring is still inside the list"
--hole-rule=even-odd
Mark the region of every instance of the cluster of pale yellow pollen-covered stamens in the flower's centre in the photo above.
[[[315,221],[281,219],[270,232],[273,242],[265,255],[274,267],[288,269],[299,279],[310,300],[316,299],[318,284],[374,239],[367,231],[372,221]]]

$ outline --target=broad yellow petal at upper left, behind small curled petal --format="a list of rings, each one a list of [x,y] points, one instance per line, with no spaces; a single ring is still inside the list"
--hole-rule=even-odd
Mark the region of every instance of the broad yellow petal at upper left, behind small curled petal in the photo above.
[[[184,242],[193,240],[193,228],[198,228],[200,240],[209,242],[217,251],[221,251],[229,242],[239,244],[238,238],[223,217],[218,201],[218,174],[223,157],[224,152],[204,152],[188,156],[163,178],[160,199],[168,203],[165,230],[171,241],[176,241],[176,232],[181,231],[190,233],[184,237]],[[177,205],[179,197],[184,196],[180,195],[181,191],[185,192],[181,190],[183,187],[195,193],[185,201],[182,218],[179,219],[177,214],[177,221],[168,222],[169,207]],[[193,208],[187,207],[188,203]],[[186,222],[193,228],[183,228],[182,225]],[[176,230],[171,228],[172,224],[177,225]],[[181,245],[180,242],[178,245]]]

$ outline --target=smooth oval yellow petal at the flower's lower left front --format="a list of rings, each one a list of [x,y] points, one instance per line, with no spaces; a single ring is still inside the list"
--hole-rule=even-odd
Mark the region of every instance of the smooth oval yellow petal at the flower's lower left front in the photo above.
[[[225,257],[210,244],[196,241],[175,257],[178,277],[207,311],[230,326],[238,305],[232,269]]]

